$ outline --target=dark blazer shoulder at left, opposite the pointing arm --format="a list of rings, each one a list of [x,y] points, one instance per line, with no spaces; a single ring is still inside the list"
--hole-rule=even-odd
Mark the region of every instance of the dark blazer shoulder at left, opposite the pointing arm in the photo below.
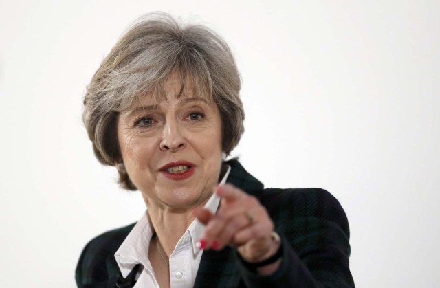
[[[78,287],[102,282],[118,275],[119,268],[114,254],[134,225],[135,223],[104,232],[85,245],[76,266],[75,278]]]

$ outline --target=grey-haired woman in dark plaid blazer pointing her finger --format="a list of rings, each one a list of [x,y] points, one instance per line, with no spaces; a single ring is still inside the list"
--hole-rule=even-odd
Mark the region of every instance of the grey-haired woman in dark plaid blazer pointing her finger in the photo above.
[[[85,247],[78,287],[354,286],[347,217],[329,192],[264,189],[224,160],[243,133],[240,84],[223,39],[168,14],[113,47],[83,118],[98,160],[147,210]]]

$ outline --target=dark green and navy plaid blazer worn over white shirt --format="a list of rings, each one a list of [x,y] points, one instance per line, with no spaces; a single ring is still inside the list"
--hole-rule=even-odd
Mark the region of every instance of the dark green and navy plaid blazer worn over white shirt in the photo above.
[[[206,250],[195,287],[354,287],[349,269],[349,224],[338,200],[326,190],[264,189],[236,160],[228,182],[257,197],[282,237],[281,267],[270,276],[248,270],[236,251]],[[91,240],[76,267],[80,288],[116,287],[120,276],[114,254],[134,224]],[[128,278],[128,277],[127,277]]]

